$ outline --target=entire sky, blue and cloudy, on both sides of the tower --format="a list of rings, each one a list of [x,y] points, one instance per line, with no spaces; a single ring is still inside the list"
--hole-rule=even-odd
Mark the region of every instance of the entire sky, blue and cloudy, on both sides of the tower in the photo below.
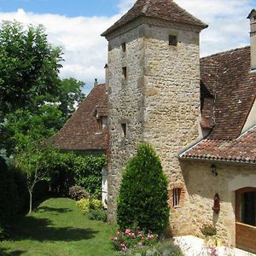
[[[61,46],[65,61],[61,78],[84,81],[89,92],[94,79],[105,81],[108,42],[101,37],[136,0],[0,0],[1,20],[43,24],[50,44]],[[206,22],[201,32],[201,56],[249,44],[247,15],[255,0],[175,0]]]

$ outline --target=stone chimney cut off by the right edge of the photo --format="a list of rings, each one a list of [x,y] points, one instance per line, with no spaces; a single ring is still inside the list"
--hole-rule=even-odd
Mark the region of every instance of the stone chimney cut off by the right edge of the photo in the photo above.
[[[252,9],[250,14],[247,16],[247,19],[250,20],[251,25],[251,70],[256,71],[256,10]]]

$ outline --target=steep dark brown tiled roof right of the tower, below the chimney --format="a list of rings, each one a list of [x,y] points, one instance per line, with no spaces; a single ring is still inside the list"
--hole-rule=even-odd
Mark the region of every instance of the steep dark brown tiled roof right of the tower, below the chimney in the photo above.
[[[201,59],[201,84],[212,96],[205,97],[201,114],[203,126],[213,127],[209,138],[241,134],[256,96],[256,73],[250,72],[250,65],[250,47]]]

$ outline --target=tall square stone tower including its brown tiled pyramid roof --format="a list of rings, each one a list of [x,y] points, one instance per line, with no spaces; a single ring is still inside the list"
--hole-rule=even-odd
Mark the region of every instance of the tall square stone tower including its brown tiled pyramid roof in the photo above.
[[[108,39],[110,150],[108,219],[127,160],[151,143],[169,179],[172,232],[189,227],[189,199],[177,154],[200,137],[199,33],[206,24],[172,0],[138,0]],[[186,231],[183,231],[186,233]]]

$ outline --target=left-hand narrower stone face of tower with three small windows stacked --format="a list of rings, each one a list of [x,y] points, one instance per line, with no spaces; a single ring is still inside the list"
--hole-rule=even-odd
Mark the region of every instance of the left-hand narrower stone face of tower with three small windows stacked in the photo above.
[[[126,67],[126,79],[123,67]],[[143,141],[143,38],[137,29],[110,39],[108,79],[108,220],[113,221],[122,172],[127,160],[136,153],[137,143]],[[127,125],[126,136],[122,124]]]

